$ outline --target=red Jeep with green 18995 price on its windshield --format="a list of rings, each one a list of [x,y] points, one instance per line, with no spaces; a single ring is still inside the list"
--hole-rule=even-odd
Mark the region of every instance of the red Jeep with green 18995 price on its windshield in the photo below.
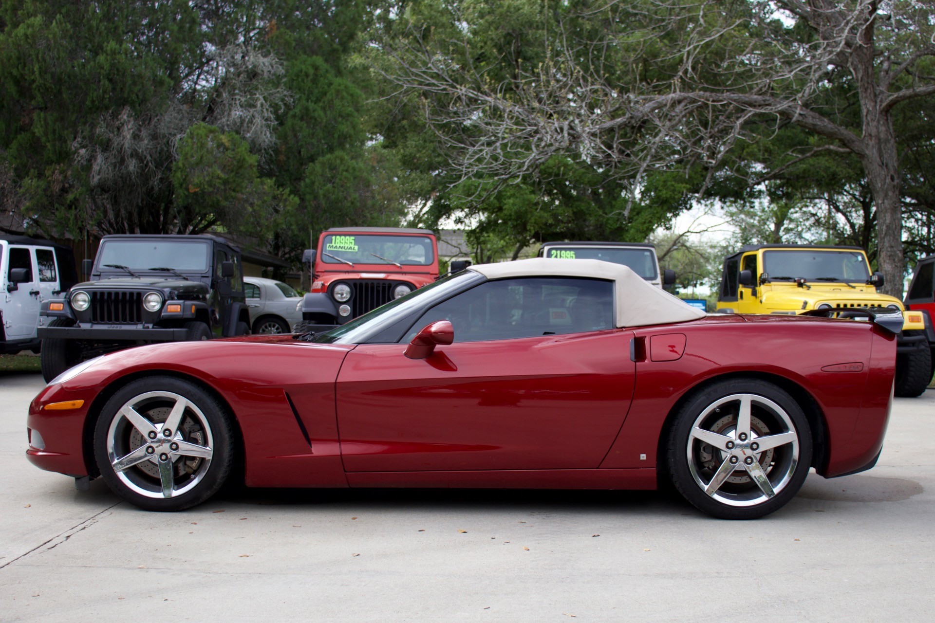
[[[439,245],[431,230],[333,227],[305,252],[311,291],[304,325],[316,333],[341,325],[439,277]],[[315,325],[309,327],[309,325]]]

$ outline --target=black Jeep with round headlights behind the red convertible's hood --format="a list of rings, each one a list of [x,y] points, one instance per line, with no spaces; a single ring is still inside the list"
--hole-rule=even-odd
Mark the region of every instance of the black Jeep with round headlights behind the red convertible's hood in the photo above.
[[[108,235],[90,280],[42,302],[46,381],[80,361],[139,344],[250,333],[240,251],[212,235]]]

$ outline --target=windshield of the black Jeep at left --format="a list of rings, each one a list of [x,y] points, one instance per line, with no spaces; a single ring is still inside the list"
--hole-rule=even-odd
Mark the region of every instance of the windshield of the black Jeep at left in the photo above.
[[[183,240],[106,240],[97,251],[97,270],[108,264],[142,271],[172,268],[204,273],[209,248],[204,242]]]

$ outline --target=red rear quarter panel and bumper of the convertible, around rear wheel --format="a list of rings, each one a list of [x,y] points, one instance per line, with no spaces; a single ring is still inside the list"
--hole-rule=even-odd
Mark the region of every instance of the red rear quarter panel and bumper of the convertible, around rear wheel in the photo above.
[[[654,335],[672,333],[685,337],[683,356],[651,361],[647,354],[637,362],[633,404],[602,468],[661,464],[660,435],[681,402],[736,375],[791,382],[811,396],[827,427],[827,460],[816,465],[820,474],[859,469],[879,452],[892,401],[895,336],[866,322],[717,315],[637,329],[635,339],[648,344]],[[861,363],[862,369],[822,370],[840,363]]]

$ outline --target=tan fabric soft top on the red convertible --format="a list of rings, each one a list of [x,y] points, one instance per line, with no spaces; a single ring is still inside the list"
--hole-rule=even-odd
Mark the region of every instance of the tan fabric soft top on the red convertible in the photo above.
[[[706,314],[664,290],[649,284],[629,266],[600,260],[550,260],[535,258],[477,264],[469,270],[488,279],[516,276],[583,276],[607,279],[616,284],[618,327],[642,327],[650,324],[687,322],[704,318]]]

